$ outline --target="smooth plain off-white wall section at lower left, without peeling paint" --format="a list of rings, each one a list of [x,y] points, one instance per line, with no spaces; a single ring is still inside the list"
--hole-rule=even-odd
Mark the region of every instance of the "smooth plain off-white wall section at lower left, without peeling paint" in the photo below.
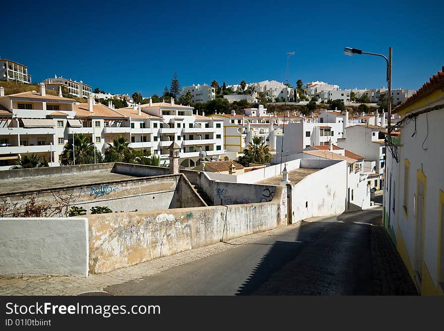
[[[0,276],[88,275],[86,218],[0,218]]]

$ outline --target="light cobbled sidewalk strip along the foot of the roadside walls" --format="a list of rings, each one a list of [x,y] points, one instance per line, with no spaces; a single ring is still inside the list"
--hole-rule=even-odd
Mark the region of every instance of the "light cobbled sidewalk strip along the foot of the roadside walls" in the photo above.
[[[0,278],[0,295],[79,295],[85,292],[99,292],[108,286],[153,275],[181,264],[224,252],[237,245],[246,245],[253,241],[280,234],[299,226],[300,223],[278,227],[265,232],[249,234],[227,242],[216,243],[157,258],[131,267],[121,268],[103,274],[90,274],[88,277],[46,276],[9,279]]]

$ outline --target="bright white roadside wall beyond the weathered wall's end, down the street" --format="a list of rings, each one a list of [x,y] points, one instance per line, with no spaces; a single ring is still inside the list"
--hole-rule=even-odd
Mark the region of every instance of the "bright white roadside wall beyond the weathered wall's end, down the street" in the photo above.
[[[316,162],[313,160],[310,162]],[[323,160],[320,161],[323,163]],[[336,162],[316,171],[292,186],[292,223],[345,211],[347,162]]]

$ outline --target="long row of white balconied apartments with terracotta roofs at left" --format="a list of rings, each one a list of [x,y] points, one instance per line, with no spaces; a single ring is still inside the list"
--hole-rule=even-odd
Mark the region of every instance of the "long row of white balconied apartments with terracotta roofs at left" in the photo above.
[[[40,91],[5,96],[0,88],[0,170],[9,169],[21,155],[36,154],[49,166],[60,165],[66,143],[76,134],[85,134],[104,153],[114,137],[124,136],[130,147],[149,150],[169,163],[169,147],[180,146],[180,163],[194,167],[200,163],[199,152],[206,161],[225,156],[223,120],[193,114],[193,107],[152,103],[113,109],[95,104],[78,103]]]

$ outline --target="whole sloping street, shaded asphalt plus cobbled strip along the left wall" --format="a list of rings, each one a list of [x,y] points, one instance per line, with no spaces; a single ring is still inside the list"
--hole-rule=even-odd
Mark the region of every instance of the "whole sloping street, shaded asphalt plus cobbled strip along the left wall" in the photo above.
[[[380,219],[311,218],[87,278],[0,279],[0,295],[414,295]]]

